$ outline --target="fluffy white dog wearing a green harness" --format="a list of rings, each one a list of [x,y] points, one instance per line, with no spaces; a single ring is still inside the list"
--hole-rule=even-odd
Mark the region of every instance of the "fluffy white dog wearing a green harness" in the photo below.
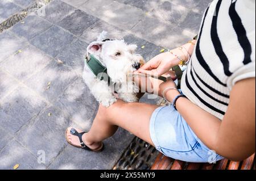
[[[144,64],[142,56],[135,54],[137,45],[127,45],[124,40],[105,39],[104,31],[87,48],[82,75],[86,85],[105,107],[117,101],[116,94],[125,102],[137,102],[136,93],[139,89],[131,75]]]

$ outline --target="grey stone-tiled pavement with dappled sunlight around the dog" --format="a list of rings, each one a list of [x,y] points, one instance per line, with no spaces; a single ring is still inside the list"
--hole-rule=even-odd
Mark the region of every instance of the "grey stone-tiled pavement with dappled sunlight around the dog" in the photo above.
[[[1,0],[0,23],[34,2]],[[190,40],[209,2],[52,0],[0,33],[0,169],[112,169],[132,134],[119,129],[102,153],[65,141],[67,127],[88,130],[97,112],[81,78],[86,47],[105,30],[150,60]]]

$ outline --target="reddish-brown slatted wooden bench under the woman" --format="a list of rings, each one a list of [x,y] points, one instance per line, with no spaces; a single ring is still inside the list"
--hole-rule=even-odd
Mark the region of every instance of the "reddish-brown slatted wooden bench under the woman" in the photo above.
[[[242,162],[233,162],[222,159],[215,164],[188,163],[168,158],[162,153],[155,159],[151,170],[255,170],[255,154]]]

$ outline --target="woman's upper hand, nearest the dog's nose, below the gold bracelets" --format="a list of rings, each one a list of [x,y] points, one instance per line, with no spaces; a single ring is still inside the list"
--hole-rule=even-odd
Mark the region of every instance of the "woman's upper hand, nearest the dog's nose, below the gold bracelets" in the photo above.
[[[167,71],[169,71],[174,66],[172,60],[175,59],[176,57],[173,56],[170,52],[161,53],[143,65],[142,68],[138,70],[138,72],[160,77],[161,75],[167,73]]]

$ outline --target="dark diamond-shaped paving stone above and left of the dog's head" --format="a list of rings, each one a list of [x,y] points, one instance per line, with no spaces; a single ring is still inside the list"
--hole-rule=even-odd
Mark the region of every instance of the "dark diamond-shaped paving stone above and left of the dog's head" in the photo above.
[[[82,32],[97,22],[97,18],[92,15],[88,15],[81,10],[76,10],[71,15],[68,15],[59,23],[59,26],[70,31],[74,35],[80,36]]]

